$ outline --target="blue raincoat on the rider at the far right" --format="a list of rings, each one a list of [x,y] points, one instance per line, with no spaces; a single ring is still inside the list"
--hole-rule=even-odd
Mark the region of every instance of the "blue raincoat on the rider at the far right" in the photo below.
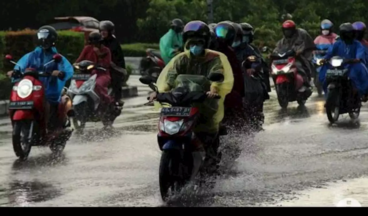
[[[365,66],[366,54],[364,46],[356,40],[353,41],[353,44],[347,45],[342,39],[338,39],[333,46],[328,49],[325,58],[330,59],[333,56],[340,56],[344,59],[362,60],[362,63],[345,64],[344,67],[349,69],[348,76],[358,89],[358,93],[360,95],[366,94],[368,92],[368,69]],[[325,93],[327,93],[326,71],[329,67],[329,64],[323,65],[319,73],[319,81],[322,83]]]

